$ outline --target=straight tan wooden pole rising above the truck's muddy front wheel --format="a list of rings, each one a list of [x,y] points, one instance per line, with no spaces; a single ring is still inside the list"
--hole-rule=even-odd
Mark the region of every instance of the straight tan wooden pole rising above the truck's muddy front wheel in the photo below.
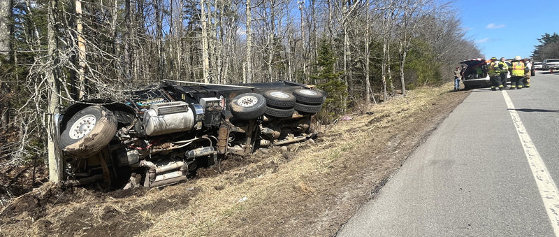
[[[80,0],[75,1],[75,15],[76,15],[76,20],[75,20],[76,28],[78,30],[78,86],[77,88],[78,88],[78,100],[81,100],[85,96],[85,40],[83,38],[82,1]]]

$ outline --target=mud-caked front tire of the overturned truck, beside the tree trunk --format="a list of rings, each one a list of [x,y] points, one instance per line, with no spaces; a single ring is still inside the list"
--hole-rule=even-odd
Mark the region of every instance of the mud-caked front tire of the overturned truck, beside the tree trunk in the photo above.
[[[60,135],[60,147],[78,158],[105,148],[117,131],[117,119],[107,108],[89,106],[72,115]]]

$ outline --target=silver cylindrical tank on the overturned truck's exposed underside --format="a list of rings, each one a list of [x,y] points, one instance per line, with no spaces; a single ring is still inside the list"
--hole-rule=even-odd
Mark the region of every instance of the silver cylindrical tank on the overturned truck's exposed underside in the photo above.
[[[184,101],[152,104],[144,113],[147,136],[189,131],[194,127],[194,113]]]

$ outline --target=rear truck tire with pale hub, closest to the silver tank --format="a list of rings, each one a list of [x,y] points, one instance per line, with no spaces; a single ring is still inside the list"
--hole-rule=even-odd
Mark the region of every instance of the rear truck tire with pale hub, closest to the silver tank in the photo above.
[[[266,112],[266,99],[261,94],[245,93],[235,96],[229,104],[233,117],[254,120]]]

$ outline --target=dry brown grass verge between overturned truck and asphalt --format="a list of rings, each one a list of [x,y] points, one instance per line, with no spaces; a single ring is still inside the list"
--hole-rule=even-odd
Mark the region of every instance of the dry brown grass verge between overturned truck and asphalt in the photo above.
[[[126,217],[123,222],[145,223],[143,231],[131,233],[140,236],[331,235],[449,113],[449,101],[456,106],[467,95],[449,94],[449,88],[416,89],[363,109],[372,115],[323,127],[316,144],[291,145],[286,154],[257,153],[239,160],[242,166],[182,185],[119,199],[81,189],[78,200],[52,205],[42,219],[57,232],[60,220],[80,209],[90,213],[91,225],[111,224],[103,217],[114,210]],[[36,220],[21,228],[22,219],[0,220],[0,234],[44,231]]]

